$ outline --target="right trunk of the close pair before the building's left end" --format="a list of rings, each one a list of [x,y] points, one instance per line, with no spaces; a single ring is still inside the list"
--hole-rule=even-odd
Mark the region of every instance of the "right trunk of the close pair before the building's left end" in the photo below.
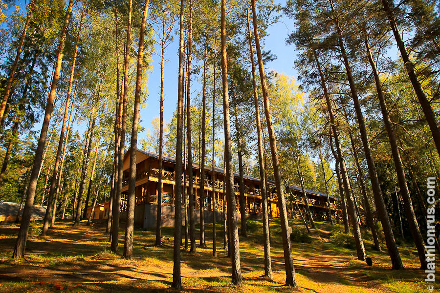
[[[127,223],[125,226],[125,242],[124,255],[125,259],[133,259],[133,241],[134,241],[134,204],[136,201],[136,152],[137,152],[137,130],[139,127],[139,108],[140,108],[140,92],[142,86],[142,67],[144,55],[144,32],[145,21],[147,19],[148,5],[150,0],[145,0],[144,14],[139,33],[139,49],[137,51],[137,73],[136,73],[136,89],[134,92],[134,111],[133,111],[133,127],[132,141],[130,147],[130,177],[129,177],[129,194],[127,203]]]

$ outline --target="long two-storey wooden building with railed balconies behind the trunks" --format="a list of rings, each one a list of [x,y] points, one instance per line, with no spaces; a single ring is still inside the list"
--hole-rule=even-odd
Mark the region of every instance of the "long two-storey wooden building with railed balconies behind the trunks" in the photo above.
[[[157,185],[159,177],[159,154],[151,151],[137,149],[136,154],[136,202],[134,211],[134,223],[144,228],[155,227],[156,209],[157,209]],[[129,177],[130,152],[124,156],[123,178],[122,183],[122,200],[121,200],[121,221],[126,218],[127,193],[128,193],[128,177]],[[175,205],[175,165],[176,159],[171,156],[163,156],[163,177],[162,177],[162,223],[163,226],[174,226],[174,205]],[[193,187],[196,223],[199,221],[200,209],[200,169],[198,164],[193,164]],[[243,175],[244,177],[244,195],[246,199],[246,218],[261,219],[262,214],[262,198],[260,194],[260,179]],[[182,177],[183,179],[183,177]],[[223,169],[215,167],[214,177],[212,176],[212,167],[205,166],[204,179],[204,218],[205,222],[211,222],[213,216],[213,183],[214,193],[216,196],[216,214],[217,220],[222,219],[223,214],[223,193],[224,193],[224,174]],[[188,186],[188,179],[186,182]],[[241,219],[239,209],[239,173],[234,172],[234,189],[236,197],[237,219]],[[295,195],[299,209],[305,214],[305,201],[302,196],[302,190],[296,186],[290,186],[292,193]],[[188,190],[188,189],[187,189]],[[317,220],[324,220],[328,212],[327,195],[318,191],[306,189],[308,204],[313,212],[313,216]],[[274,182],[268,182],[268,211],[270,217],[279,217],[278,200],[275,193]],[[188,194],[188,191],[187,191]],[[287,210],[289,216],[299,218],[299,210],[289,199],[289,194],[285,192]],[[188,204],[188,203],[187,203]],[[184,201],[182,200],[182,207]],[[333,217],[338,220],[342,219],[339,199],[330,196],[330,208]],[[90,208],[91,209],[91,208]],[[101,208],[99,208],[101,209]],[[183,208],[182,208],[183,209]],[[96,209],[95,209],[96,210]],[[89,212],[89,211],[88,211]]]

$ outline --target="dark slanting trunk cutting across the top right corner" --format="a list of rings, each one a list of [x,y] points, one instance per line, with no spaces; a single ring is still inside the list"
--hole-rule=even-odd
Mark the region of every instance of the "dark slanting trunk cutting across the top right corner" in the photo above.
[[[392,1],[394,6],[394,1]],[[387,14],[388,21],[390,21],[391,29],[393,30],[394,38],[396,39],[397,47],[400,52],[400,56],[402,57],[403,64],[405,65],[406,71],[408,72],[408,77],[411,81],[411,84],[413,85],[414,91],[416,92],[418,101],[420,102],[420,106],[423,110],[423,114],[425,115],[426,122],[428,122],[428,126],[432,133],[432,138],[434,139],[434,143],[437,147],[437,151],[440,155],[440,126],[436,119],[436,114],[432,110],[431,104],[429,100],[426,97],[425,92],[423,91],[423,87],[421,86],[420,82],[418,81],[416,71],[415,71],[415,65],[411,62],[409,58],[409,54],[406,51],[405,43],[402,40],[402,37],[400,36],[399,29],[397,27],[397,21],[394,18],[394,12],[391,10],[388,0],[382,0],[382,5],[385,13]],[[385,119],[385,117],[384,117]],[[406,192],[406,191],[404,191]],[[405,197],[406,195],[402,195],[402,197]],[[405,199],[404,199],[405,200]],[[406,206],[406,204],[405,204]],[[406,208],[405,208],[406,211]],[[410,220],[412,221],[412,219]],[[413,224],[410,224],[413,226]],[[413,228],[411,228],[411,231]],[[417,232],[417,231],[416,231]],[[414,236],[413,236],[414,237]],[[419,236],[416,237],[416,246],[418,248],[418,254],[420,258],[420,262],[422,262],[422,268],[426,267],[426,260],[421,259],[421,247],[420,246],[420,240],[418,239]],[[424,264],[423,264],[424,262]]]

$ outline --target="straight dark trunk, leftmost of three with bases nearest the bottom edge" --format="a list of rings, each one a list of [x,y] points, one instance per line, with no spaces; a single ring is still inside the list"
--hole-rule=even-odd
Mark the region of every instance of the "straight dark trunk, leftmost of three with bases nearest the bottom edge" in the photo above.
[[[173,251],[173,283],[172,287],[182,289],[180,278],[180,244],[182,242],[182,124],[183,124],[183,7],[180,0],[179,20],[179,75],[177,92],[177,129],[176,129],[176,193],[174,216],[174,251]],[[186,206],[186,203],[185,203]]]

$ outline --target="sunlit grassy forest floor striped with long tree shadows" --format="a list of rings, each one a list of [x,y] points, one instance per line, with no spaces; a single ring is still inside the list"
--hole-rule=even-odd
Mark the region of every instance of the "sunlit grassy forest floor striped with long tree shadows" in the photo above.
[[[418,269],[413,245],[399,243],[405,270],[392,271],[386,246],[382,244],[383,252],[374,251],[371,234],[365,231],[367,255],[373,259],[373,266],[369,268],[356,259],[352,237],[342,234],[340,225],[317,222],[318,229],[309,235],[299,221],[289,222],[293,227],[292,254],[298,289],[283,286],[286,274],[280,220],[273,219],[270,220],[273,280],[262,277],[262,222],[248,221],[248,237],[240,236],[243,286],[238,288],[231,283],[230,259],[223,250],[220,222],[217,224],[217,257],[212,256],[212,224],[205,225],[208,248],[198,247],[197,233],[197,252],[182,251],[182,292],[428,292],[428,284],[424,282],[426,273]],[[170,288],[173,228],[162,229],[163,246],[160,248],[154,247],[155,229],[135,230],[135,258],[128,261],[110,252],[103,222],[86,226],[83,221],[78,227],[72,227],[68,221],[59,222],[45,237],[38,236],[41,226],[41,221],[32,223],[25,257],[17,260],[11,255],[19,225],[0,224],[0,293],[56,292],[60,288],[54,284],[64,287],[64,291],[78,293],[174,292]],[[122,227],[119,233],[121,253],[124,234]],[[434,286],[440,290],[439,283]]]

